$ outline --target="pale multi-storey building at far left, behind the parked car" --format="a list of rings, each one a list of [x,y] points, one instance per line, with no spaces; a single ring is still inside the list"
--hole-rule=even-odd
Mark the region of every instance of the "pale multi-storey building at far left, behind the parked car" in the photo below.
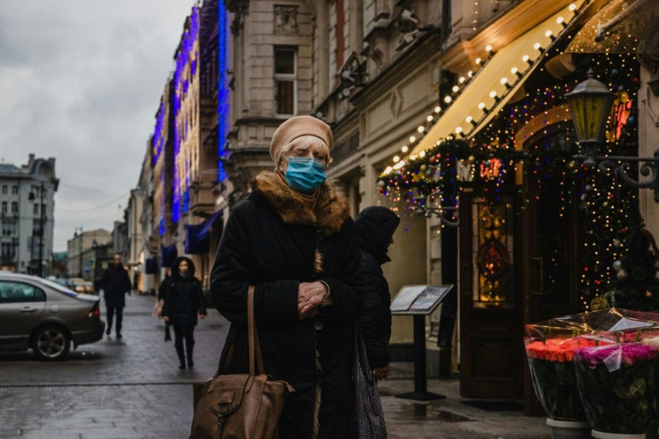
[[[0,270],[50,274],[58,185],[55,159],[0,164]]]

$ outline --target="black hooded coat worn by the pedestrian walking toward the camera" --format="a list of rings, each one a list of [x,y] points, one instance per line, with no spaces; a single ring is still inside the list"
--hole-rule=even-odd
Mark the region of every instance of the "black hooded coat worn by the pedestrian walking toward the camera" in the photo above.
[[[187,261],[188,272],[183,276],[178,271],[178,264]],[[172,276],[163,281],[162,316],[168,317],[170,324],[194,326],[197,314],[206,315],[206,303],[201,290],[201,282],[194,277],[193,261],[179,257],[172,267]]]

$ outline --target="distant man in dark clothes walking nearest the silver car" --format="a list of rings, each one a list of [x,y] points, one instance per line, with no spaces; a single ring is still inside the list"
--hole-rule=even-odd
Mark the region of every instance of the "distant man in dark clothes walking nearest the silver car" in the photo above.
[[[122,321],[124,320],[124,306],[126,306],[125,294],[130,292],[131,280],[128,277],[128,271],[124,269],[124,263],[121,262],[121,254],[115,254],[113,263],[111,263],[106,271],[103,272],[101,278],[101,286],[103,294],[106,299],[107,310],[107,330],[106,334],[109,336],[112,330],[112,321],[116,314],[116,338],[121,339]]]

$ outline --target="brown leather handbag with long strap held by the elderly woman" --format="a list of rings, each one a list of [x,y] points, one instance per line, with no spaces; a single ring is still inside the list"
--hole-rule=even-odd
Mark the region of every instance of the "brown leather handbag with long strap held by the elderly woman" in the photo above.
[[[254,322],[253,286],[250,286],[247,295],[247,328],[250,373],[220,374],[204,383],[194,408],[191,439],[277,437],[281,411],[288,394],[294,390],[289,383],[272,380],[265,374],[259,334]],[[261,374],[256,374],[257,365]]]

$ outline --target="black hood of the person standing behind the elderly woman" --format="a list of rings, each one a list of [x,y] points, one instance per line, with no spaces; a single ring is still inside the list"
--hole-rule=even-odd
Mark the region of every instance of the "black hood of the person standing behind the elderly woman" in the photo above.
[[[379,262],[389,262],[387,250],[400,218],[386,207],[372,206],[361,211],[355,219],[355,232],[359,246]]]

